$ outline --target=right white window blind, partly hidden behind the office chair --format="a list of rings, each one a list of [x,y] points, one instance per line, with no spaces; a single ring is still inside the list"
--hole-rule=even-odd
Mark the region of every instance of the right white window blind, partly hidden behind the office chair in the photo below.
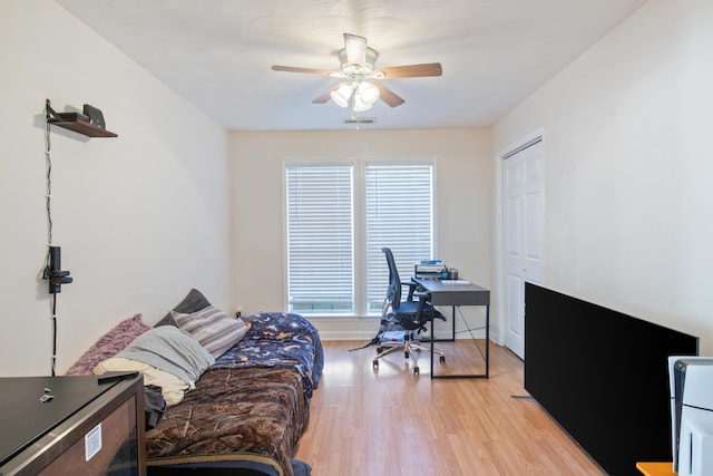
[[[389,247],[402,282],[413,263],[433,253],[433,167],[431,164],[367,164],[367,311],[380,312],[389,283],[381,251]],[[406,295],[404,295],[406,298]]]

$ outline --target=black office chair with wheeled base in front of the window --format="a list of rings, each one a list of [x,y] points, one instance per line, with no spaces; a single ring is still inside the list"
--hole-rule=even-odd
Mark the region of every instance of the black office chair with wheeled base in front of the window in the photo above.
[[[403,350],[404,358],[411,358],[413,373],[419,375],[416,352],[421,350],[430,352],[431,347],[430,344],[428,347],[420,344],[417,336],[426,330],[426,324],[431,322],[433,318],[442,319],[443,321],[446,318],[428,303],[428,292],[419,289],[416,282],[401,283],[393,253],[388,247],[382,247],[381,251],[387,255],[387,263],[389,264],[389,286],[387,288],[387,297],[381,310],[381,329],[375,339],[379,346],[377,347],[379,354],[373,360],[373,367],[379,367],[379,359],[382,357]],[[409,293],[407,299],[402,301],[402,286],[407,285],[409,286]],[[414,300],[414,298],[418,300]],[[394,332],[399,336],[403,332],[402,338],[393,340]],[[446,361],[446,356],[440,350],[433,349],[433,353],[439,356],[441,363]]]

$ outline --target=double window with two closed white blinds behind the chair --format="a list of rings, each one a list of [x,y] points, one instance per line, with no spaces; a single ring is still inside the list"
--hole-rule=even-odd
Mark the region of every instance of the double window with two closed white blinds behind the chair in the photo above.
[[[432,258],[430,161],[291,164],[285,187],[292,312],[379,313],[389,278],[381,249],[393,251],[403,279]]]

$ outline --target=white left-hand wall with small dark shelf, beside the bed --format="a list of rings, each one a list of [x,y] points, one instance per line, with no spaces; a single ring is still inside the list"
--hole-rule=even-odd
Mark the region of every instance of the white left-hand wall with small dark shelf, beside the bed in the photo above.
[[[48,375],[43,106],[102,109],[118,138],[52,128],[58,373],[119,320],[188,292],[229,304],[226,134],[50,0],[0,7],[0,376]]]

